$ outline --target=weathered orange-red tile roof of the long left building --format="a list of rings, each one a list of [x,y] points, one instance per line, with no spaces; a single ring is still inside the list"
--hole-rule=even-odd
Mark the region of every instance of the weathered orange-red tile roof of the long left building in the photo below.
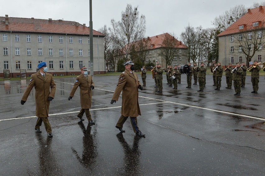
[[[74,21],[8,17],[8,25],[5,25],[5,19],[0,16],[0,31],[89,35],[89,27]],[[95,30],[93,35],[105,36]]]

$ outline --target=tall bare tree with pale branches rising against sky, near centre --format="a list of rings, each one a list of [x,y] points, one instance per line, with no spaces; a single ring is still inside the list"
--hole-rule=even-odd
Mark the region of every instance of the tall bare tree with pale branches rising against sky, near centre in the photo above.
[[[111,20],[111,35],[122,49],[125,58],[131,52],[132,45],[139,39],[143,38],[146,30],[146,20],[144,15],[139,15],[137,7],[132,8],[131,4],[127,4],[125,11],[121,13],[121,21]]]

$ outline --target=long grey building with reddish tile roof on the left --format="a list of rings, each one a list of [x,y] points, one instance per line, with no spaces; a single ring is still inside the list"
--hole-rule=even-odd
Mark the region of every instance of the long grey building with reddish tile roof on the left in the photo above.
[[[45,61],[53,75],[78,75],[83,65],[90,68],[89,27],[73,21],[0,17],[0,77],[36,73]],[[94,74],[105,73],[105,35],[93,30]]]

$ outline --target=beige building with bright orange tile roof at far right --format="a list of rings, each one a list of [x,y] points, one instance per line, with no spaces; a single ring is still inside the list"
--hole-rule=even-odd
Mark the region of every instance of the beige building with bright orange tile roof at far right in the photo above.
[[[265,61],[264,22],[265,6],[248,9],[244,16],[218,35],[219,61],[223,67],[227,67],[229,63],[234,67],[236,62],[247,63],[248,55],[253,55],[249,62]]]

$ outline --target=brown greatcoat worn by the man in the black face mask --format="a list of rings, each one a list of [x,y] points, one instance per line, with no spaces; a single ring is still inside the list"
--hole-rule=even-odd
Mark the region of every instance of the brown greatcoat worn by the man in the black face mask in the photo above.
[[[127,117],[137,117],[141,115],[139,102],[138,102],[138,81],[137,74],[125,70],[120,74],[119,81],[115,92],[112,96],[112,100],[118,101],[119,95],[122,91],[122,108],[121,115]]]

